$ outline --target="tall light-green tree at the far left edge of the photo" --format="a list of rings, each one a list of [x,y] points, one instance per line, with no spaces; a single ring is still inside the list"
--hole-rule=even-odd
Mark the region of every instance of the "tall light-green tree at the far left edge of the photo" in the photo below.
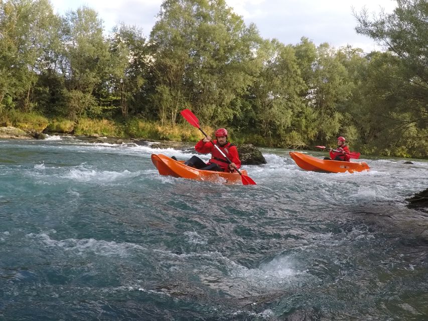
[[[55,22],[47,0],[0,2],[0,106],[8,96],[10,107],[34,108],[34,85]]]

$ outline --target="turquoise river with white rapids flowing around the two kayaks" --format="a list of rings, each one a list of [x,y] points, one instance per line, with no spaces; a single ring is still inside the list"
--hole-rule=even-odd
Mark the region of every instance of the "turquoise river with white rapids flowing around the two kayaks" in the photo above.
[[[0,147],[2,321],[428,319],[427,161],[262,148],[243,186],[160,176],[152,153],[192,154],[156,143]]]

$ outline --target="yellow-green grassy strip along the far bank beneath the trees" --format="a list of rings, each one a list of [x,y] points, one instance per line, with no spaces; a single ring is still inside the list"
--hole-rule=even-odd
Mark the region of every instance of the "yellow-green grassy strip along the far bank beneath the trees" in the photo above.
[[[80,118],[72,121],[65,118],[48,118],[34,112],[3,111],[0,113],[0,126],[14,126],[26,131],[56,133],[70,133],[75,135],[93,135],[119,137],[119,138],[144,138],[173,141],[198,141],[203,136],[202,133],[187,122],[176,124],[161,124],[157,121],[148,121],[131,117],[128,119],[92,119]],[[214,128],[204,125],[206,133],[213,135]],[[256,146],[282,147],[282,148],[309,148],[299,135],[290,134],[290,142],[277,141],[274,137],[263,137],[258,134],[248,134],[238,132],[233,128],[229,129],[231,141],[237,144],[252,143]],[[295,137],[296,136],[296,137]],[[286,144],[286,145],[284,145]],[[334,142],[333,142],[334,144]],[[352,145],[351,149],[360,151],[366,155],[397,156],[421,158],[420,154],[414,154],[406,146],[395,148],[377,148],[366,145]],[[422,155],[424,157],[424,155]]]

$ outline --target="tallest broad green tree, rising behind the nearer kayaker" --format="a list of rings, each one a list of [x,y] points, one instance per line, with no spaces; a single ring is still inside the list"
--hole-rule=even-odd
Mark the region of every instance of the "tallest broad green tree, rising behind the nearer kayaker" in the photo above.
[[[213,123],[240,112],[231,103],[253,81],[258,40],[255,27],[247,28],[224,0],[165,1],[151,33],[152,98],[161,119],[174,124],[178,111],[188,105]]]

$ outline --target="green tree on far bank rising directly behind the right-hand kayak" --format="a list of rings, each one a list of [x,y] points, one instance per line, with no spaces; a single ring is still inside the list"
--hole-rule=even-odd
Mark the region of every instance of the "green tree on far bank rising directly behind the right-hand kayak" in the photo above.
[[[340,51],[323,43],[316,47],[307,38],[295,46],[306,87],[300,95],[306,106],[295,127],[306,141],[328,142],[347,126],[341,110],[351,96],[353,84]]]

